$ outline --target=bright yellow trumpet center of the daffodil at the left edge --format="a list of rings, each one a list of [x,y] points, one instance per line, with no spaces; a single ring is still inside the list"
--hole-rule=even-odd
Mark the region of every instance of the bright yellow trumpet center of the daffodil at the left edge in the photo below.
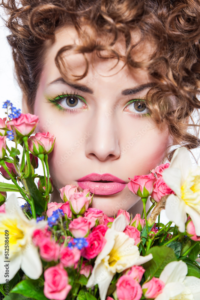
[[[25,232],[20,229],[19,220],[15,218],[2,217],[0,220],[0,249],[4,250],[4,245],[9,245],[9,256],[21,250],[21,247],[25,244]],[[6,239],[5,233],[8,232],[8,239]],[[6,231],[6,232],[5,232]],[[5,242],[5,241],[8,241]]]

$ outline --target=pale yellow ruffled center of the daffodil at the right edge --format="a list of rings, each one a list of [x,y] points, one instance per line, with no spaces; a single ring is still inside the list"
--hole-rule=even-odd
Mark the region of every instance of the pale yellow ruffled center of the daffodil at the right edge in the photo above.
[[[189,174],[181,187],[181,198],[200,213],[200,175]]]

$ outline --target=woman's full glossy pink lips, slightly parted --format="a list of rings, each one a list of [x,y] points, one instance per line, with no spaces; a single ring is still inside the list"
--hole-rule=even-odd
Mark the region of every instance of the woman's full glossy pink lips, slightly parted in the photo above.
[[[95,182],[99,180],[111,182]],[[79,178],[77,182],[82,189],[90,189],[91,193],[97,195],[112,195],[121,192],[127,185],[125,181],[109,173],[91,173]]]

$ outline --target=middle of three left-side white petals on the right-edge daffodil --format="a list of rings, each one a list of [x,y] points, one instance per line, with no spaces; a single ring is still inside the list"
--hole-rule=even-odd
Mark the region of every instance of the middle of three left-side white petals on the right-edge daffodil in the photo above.
[[[169,167],[163,171],[162,176],[164,182],[181,197],[181,170]]]

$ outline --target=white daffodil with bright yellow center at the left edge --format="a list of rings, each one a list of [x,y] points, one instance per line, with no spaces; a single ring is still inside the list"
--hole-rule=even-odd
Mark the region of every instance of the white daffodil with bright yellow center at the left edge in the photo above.
[[[31,279],[40,277],[42,262],[37,247],[32,243],[32,233],[46,225],[46,221],[36,223],[35,219],[28,220],[14,194],[7,199],[5,213],[0,213],[0,284],[6,279],[11,280],[19,268]],[[7,274],[8,277],[5,277]]]

